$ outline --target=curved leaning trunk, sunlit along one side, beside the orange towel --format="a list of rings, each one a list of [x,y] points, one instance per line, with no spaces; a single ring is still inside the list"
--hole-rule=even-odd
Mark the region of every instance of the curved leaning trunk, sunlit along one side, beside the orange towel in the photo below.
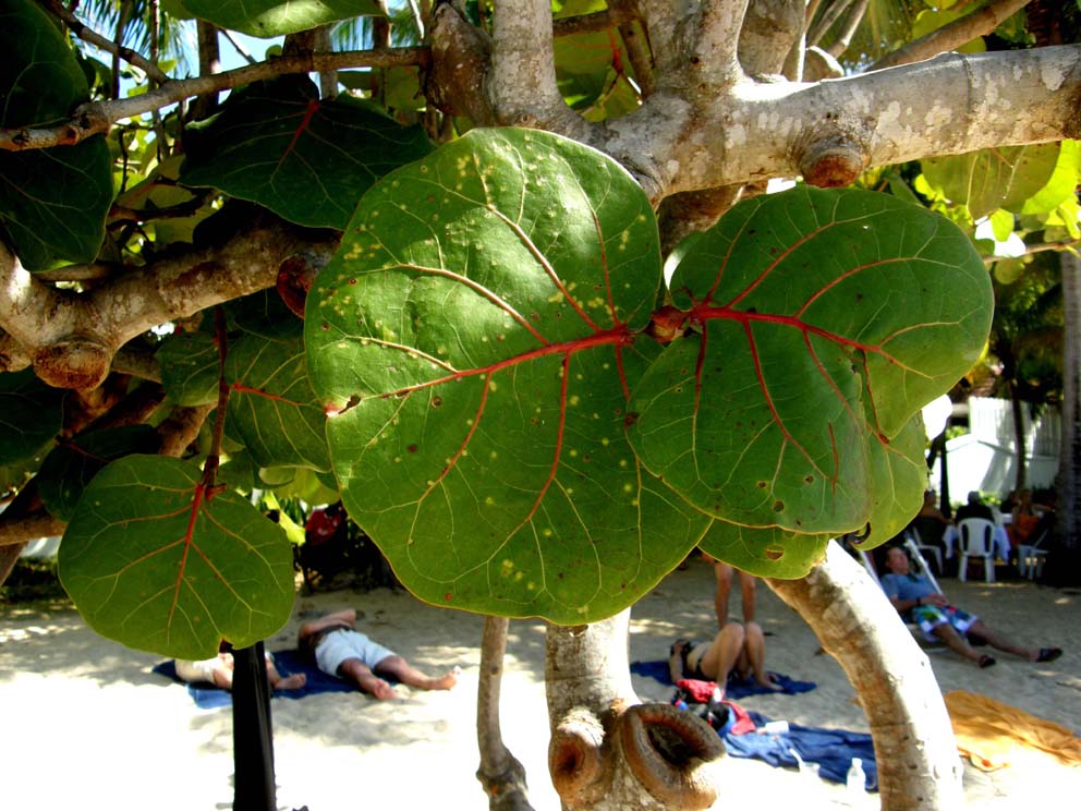
[[[836,543],[802,580],[767,579],[848,675],[871,725],[886,811],[962,804],[961,763],[931,663],[885,594]]]

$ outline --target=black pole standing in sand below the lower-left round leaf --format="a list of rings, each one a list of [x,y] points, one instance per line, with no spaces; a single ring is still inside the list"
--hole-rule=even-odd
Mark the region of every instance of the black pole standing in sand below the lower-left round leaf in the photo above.
[[[262,642],[233,651],[233,811],[276,811],[270,682]]]

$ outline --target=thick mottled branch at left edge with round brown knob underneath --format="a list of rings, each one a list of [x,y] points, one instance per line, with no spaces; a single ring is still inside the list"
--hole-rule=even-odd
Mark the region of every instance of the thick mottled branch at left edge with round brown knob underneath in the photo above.
[[[39,281],[0,246],[0,327],[46,383],[94,388],[108,374],[117,350],[135,336],[272,287],[279,267],[291,257],[323,267],[339,240],[337,232],[256,221],[220,247],[162,258],[86,294]],[[7,342],[0,350],[7,354],[0,354],[0,371],[22,367],[20,353]]]

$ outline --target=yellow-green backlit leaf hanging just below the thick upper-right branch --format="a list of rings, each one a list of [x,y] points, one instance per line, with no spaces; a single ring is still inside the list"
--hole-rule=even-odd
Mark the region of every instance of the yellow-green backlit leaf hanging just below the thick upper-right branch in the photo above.
[[[996,208],[1020,211],[1055,172],[1058,144],[997,146],[964,155],[922,161],[927,182],[954,203],[965,205],[972,219]]]

